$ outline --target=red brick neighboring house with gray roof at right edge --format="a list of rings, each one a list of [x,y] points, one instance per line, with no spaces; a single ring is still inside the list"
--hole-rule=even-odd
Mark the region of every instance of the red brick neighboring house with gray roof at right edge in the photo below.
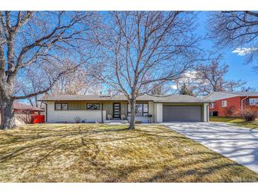
[[[209,113],[213,116],[235,116],[238,110],[250,107],[258,111],[257,91],[216,91],[204,97],[213,101]]]

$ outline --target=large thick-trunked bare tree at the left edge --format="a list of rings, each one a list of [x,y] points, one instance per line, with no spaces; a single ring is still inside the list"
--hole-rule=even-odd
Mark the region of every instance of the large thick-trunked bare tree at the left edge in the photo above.
[[[85,40],[92,13],[74,11],[0,12],[1,129],[15,126],[13,101],[31,98],[52,88],[64,74],[88,60]],[[80,49],[79,49],[80,48]],[[74,66],[64,63],[66,56]],[[44,77],[31,93],[16,91],[22,75],[34,71]],[[17,81],[17,82],[16,82]]]

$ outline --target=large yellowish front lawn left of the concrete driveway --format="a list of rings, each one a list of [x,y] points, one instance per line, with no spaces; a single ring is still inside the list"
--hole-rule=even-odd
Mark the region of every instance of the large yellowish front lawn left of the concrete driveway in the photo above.
[[[0,132],[1,182],[238,182],[258,174],[163,125],[24,125]]]

